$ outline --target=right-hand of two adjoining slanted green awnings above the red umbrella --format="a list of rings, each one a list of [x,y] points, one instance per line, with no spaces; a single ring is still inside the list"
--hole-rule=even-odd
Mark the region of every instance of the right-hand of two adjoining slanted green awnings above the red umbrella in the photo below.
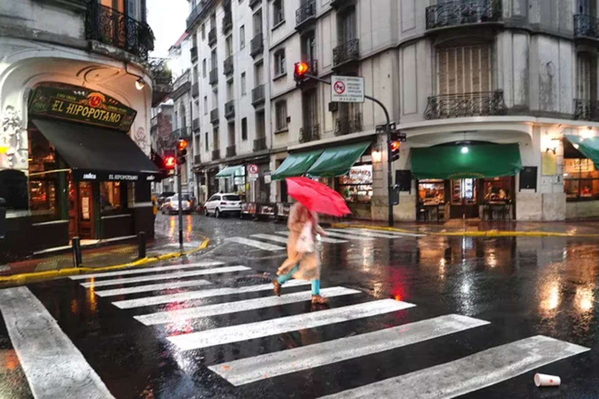
[[[370,141],[327,148],[308,169],[312,177],[342,176],[370,146]]]

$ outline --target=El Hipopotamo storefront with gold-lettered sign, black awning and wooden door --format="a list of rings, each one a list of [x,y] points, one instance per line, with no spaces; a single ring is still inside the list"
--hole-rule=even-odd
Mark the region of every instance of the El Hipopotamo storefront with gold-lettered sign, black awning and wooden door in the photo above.
[[[47,83],[32,90],[23,173],[28,218],[20,223],[35,237],[34,250],[68,245],[74,236],[153,236],[150,182],[162,176],[129,138],[136,114],[83,87]],[[20,190],[2,177],[14,172],[0,171],[5,191]]]

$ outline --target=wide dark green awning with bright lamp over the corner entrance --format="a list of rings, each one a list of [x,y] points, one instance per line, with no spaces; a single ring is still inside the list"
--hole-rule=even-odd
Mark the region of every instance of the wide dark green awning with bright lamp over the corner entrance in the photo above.
[[[513,176],[521,169],[518,144],[412,148],[412,174],[417,179]]]

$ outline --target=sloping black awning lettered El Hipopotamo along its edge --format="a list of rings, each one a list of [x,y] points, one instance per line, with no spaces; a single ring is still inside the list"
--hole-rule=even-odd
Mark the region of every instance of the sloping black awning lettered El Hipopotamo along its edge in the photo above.
[[[126,133],[88,124],[34,118],[76,180],[153,181],[156,165]]]

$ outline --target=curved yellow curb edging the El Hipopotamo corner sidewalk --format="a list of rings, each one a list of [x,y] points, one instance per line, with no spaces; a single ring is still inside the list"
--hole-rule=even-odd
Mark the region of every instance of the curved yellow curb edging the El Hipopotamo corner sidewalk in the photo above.
[[[156,261],[179,258],[184,255],[190,255],[195,252],[201,251],[202,249],[205,249],[209,243],[210,243],[210,239],[208,237],[204,237],[204,241],[202,241],[201,245],[199,245],[197,248],[191,249],[190,251],[170,252],[168,254],[158,255],[157,257],[146,257],[146,258],[138,259],[138,260],[135,260],[135,261],[132,261],[129,263],[115,264],[113,266],[68,267],[66,269],[47,270],[45,272],[32,272],[32,273],[21,273],[19,275],[0,276],[0,284],[8,283],[8,282],[24,284],[24,283],[26,283],[28,281],[32,281],[32,280],[36,280],[36,281],[38,281],[40,279],[47,280],[47,279],[53,279],[53,278],[57,278],[57,277],[74,276],[74,275],[79,275],[79,274],[84,274],[84,273],[107,272],[108,270],[117,270],[117,269],[125,269],[127,267],[136,267],[136,266],[141,266],[141,265],[156,262]]]

